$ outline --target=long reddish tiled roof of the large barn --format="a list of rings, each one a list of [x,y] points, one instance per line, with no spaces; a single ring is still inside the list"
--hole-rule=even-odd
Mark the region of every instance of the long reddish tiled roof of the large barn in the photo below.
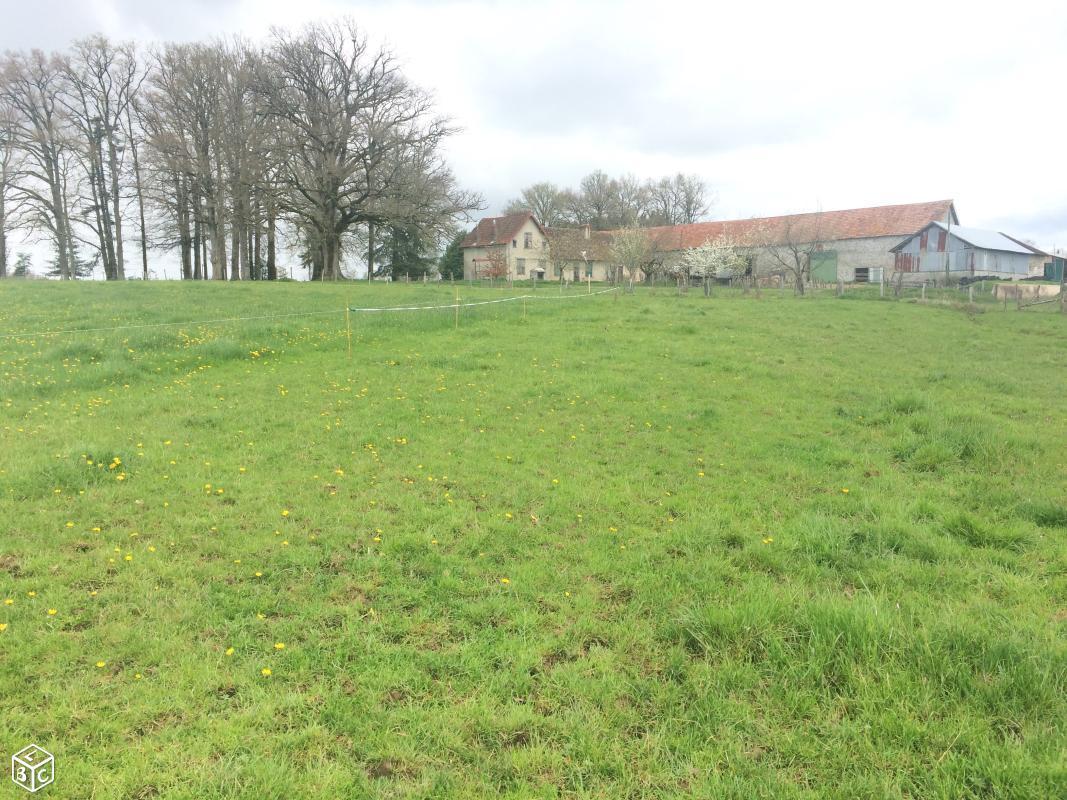
[[[750,220],[698,222],[691,225],[648,228],[648,231],[659,250],[667,251],[696,247],[708,239],[718,239],[723,235],[743,244],[784,244],[791,239],[802,242],[815,239],[835,241],[910,236],[931,222],[946,219],[949,214],[952,214],[955,223],[956,209],[951,199],[945,199]]]

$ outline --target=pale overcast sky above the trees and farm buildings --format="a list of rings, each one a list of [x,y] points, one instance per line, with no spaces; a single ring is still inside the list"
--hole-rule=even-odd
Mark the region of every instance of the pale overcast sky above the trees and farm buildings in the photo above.
[[[349,15],[463,128],[499,211],[594,169],[696,173],[718,219],[952,197],[1067,246],[1067,2],[0,0],[0,48],[143,43]]]

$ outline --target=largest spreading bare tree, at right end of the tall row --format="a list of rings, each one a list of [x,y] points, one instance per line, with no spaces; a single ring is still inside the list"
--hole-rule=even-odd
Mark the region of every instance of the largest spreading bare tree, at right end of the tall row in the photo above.
[[[377,228],[395,221],[398,207],[421,205],[405,196],[432,187],[441,217],[480,205],[459,192],[445,171],[440,145],[453,132],[432,115],[429,96],[409,83],[394,57],[372,51],[351,20],[313,25],[298,34],[275,30],[257,91],[265,113],[289,143],[281,160],[282,209],[307,237],[315,279],[341,276],[345,237],[366,226],[368,253]],[[412,179],[418,164],[434,180]],[[368,263],[368,277],[375,272]]]

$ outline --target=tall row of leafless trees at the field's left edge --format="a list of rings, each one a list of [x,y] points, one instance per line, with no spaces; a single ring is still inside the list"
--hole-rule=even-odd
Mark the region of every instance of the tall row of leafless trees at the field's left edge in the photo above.
[[[101,35],[0,59],[0,277],[13,235],[52,274],[314,279],[428,270],[481,197],[442,144],[456,128],[352,20],[142,49]],[[23,263],[25,267],[25,263]]]

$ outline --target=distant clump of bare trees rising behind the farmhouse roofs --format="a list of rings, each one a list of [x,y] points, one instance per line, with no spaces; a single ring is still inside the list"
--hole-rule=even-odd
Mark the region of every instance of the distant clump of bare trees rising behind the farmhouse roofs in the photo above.
[[[589,225],[594,230],[700,222],[712,207],[706,183],[679,173],[658,180],[633,175],[610,177],[601,170],[586,175],[576,189],[542,181],[522,190],[505,213],[532,211],[548,226]]]

